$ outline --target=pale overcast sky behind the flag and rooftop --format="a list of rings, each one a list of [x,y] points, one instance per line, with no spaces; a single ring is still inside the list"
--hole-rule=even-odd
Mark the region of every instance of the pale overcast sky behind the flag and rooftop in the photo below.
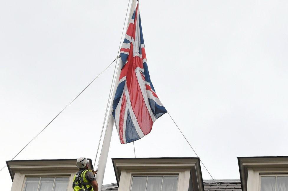
[[[287,156],[288,1],[140,1],[158,97],[214,178],[239,178],[239,156]],[[116,57],[127,3],[0,1],[1,168]],[[110,67],[15,159],[94,160],[112,75]],[[135,149],[195,157],[168,114]],[[134,157],[115,128],[104,184],[116,182],[114,157]],[[0,178],[9,190],[7,168]]]

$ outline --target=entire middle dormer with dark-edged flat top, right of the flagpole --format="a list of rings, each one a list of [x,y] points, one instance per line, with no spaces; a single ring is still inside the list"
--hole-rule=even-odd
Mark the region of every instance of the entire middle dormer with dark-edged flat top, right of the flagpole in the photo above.
[[[112,159],[118,191],[204,191],[199,158]]]

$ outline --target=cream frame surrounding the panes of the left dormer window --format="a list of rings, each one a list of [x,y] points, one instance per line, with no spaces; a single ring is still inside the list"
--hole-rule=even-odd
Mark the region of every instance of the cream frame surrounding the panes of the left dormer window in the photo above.
[[[27,178],[30,177],[69,177],[68,180],[68,187],[67,191],[73,191],[72,183],[73,183],[73,177],[76,174],[75,171],[71,170],[57,170],[57,171],[19,171],[16,172],[14,175],[13,182],[17,184],[13,184],[11,191],[24,191],[25,183]],[[71,186],[69,186],[71,185]]]

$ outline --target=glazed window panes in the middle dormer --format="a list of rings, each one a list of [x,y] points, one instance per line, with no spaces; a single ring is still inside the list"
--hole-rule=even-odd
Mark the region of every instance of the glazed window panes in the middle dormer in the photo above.
[[[131,191],[176,191],[178,176],[133,176]]]

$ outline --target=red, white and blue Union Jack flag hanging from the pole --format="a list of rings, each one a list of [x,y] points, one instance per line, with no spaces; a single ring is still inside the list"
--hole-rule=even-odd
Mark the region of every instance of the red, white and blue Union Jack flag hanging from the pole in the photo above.
[[[155,120],[167,112],[157,97],[148,72],[139,3],[129,19],[120,49],[123,67],[112,111],[123,144],[147,135]]]

